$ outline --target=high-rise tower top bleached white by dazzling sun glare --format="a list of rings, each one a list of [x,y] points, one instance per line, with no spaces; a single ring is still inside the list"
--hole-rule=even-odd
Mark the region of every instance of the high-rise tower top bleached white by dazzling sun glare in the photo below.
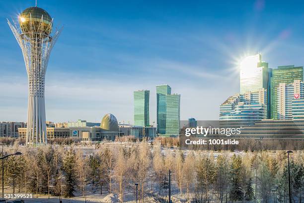
[[[268,63],[262,62],[261,54],[246,57],[240,64],[240,94],[268,89]]]

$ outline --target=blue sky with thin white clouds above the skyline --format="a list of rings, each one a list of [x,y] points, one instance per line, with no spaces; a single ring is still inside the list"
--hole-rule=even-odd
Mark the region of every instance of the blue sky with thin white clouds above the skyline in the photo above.
[[[35,0],[0,0],[0,120],[25,121],[27,77],[6,18]],[[133,91],[155,85],[181,94],[181,119],[219,117],[239,90],[237,63],[261,52],[271,68],[304,65],[302,1],[38,0],[64,25],[46,75],[51,121],[99,121],[113,113],[133,123]]]

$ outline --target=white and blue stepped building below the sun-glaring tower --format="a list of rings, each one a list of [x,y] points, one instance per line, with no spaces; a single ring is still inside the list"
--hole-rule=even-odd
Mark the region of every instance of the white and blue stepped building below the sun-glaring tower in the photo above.
[[[267,91],[246,92],[229,97],[220,105],[220,120],[234,120],[247,125],[267,118]]]

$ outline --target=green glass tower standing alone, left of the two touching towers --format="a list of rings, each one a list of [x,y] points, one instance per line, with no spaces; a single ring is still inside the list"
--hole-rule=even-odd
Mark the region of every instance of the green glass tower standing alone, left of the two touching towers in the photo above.
[[[134,125],[149,126],[149,90],[139,90],[133,93],[134,96]]]

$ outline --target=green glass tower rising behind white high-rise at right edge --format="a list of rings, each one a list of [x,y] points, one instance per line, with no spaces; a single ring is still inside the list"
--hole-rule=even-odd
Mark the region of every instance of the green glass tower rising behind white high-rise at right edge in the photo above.
[[[279,66],[272,69],[271,77],[271,119],[278,119],[278,87],[280,83],[290,84],[294,80],[303,81],[303,66]]]

